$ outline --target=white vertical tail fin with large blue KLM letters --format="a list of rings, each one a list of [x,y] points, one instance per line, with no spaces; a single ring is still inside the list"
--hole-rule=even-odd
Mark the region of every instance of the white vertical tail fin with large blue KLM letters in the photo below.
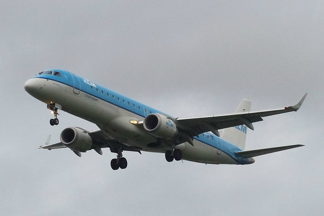
[[[235,112],[248,112],[250,110],[251,101],[243,99]],[[247,126],[242,124],[234,127],[225,128],[224,131],[222,131],[220,138],[225,140],[226,142],[237,146],[241,150],[244,150],[245,141],[247,138]]]

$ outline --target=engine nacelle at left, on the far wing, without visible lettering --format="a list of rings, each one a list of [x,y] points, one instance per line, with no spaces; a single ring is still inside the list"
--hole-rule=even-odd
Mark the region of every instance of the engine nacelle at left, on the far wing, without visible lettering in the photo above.
[[[90,135],[80,128],[65,128],[61,133],[60,140],[66,147],[75,151],[86,152],[92,149],[92,139]]]

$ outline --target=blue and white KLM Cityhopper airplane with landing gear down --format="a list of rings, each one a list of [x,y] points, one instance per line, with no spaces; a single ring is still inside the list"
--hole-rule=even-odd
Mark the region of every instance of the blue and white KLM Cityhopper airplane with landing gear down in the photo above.
[[[262,121],[262,117],[297,111],[307,93],[298,104],[280,109],[251,112],[251,101],[243,99],[232,114],[179,118],[66,70],[42,71],[28,79],[24,89],[52,110],[51,125],[59,124],[58,110],[63,110],[99,127],[94,131],[67,127],[60,134],[60,142],[50,144],[49,137],[40,149],[69,148],[81,157],[81,152],[94,149],[102,155],[102,148],[110,148],[117,154],[110,162],[113,170],[127,167],[127,159],[123,157],[125,151],[164,153],[168,162],[188,160],[244,165],[254,163],[256,156],[303,146],[245,150],[247,128],[254,130],[253,122]]]

